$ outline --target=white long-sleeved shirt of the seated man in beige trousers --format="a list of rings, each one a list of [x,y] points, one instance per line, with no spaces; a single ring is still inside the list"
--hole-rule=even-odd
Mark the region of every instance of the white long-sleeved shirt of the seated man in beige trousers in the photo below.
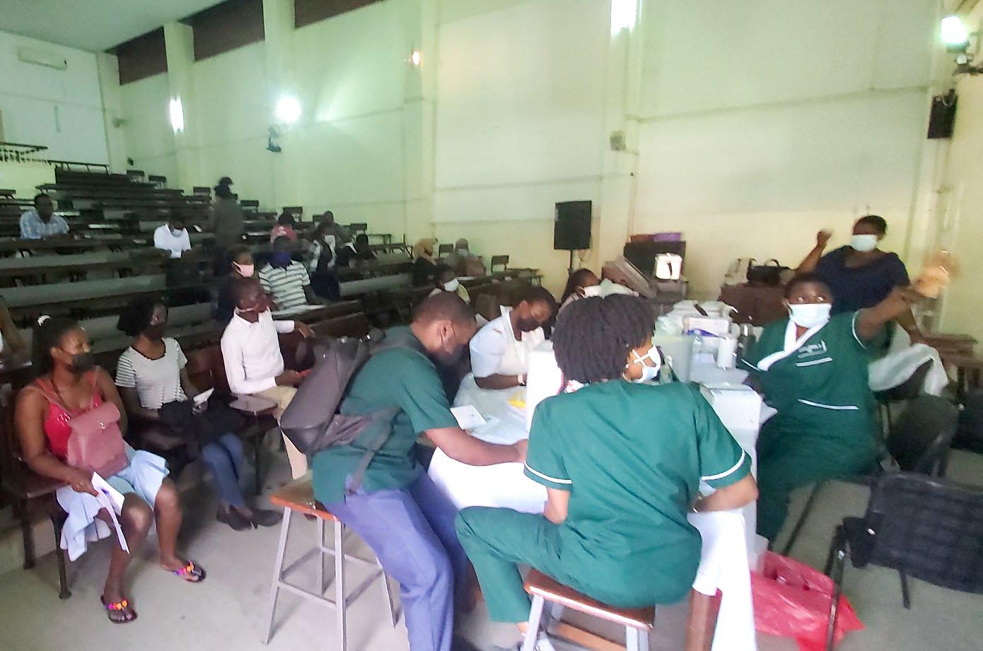
[[[256,323],[232,316],[222,334],[225,378],[232,393],[255,394],[276,386],[276,376],[283,372],[276,334],[293,331],[293,321],[274,321],[268,309]]]

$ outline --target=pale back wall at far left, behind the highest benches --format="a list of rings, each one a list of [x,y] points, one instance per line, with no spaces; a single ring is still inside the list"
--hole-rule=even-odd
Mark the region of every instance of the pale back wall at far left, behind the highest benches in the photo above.
[[[64,58],[68,66],[20,61],[22,47]],[[0,71],[0,139],[45,145],[46,158],[108,163],[94,54],[0,31]]]

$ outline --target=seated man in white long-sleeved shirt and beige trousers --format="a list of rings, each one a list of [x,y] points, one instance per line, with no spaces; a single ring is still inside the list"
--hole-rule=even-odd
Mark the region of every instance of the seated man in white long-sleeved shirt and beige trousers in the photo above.
[[[303,377],[297,371],[284,370],[277,333],[296,330],[305,339],[314,333],[300,321],[274,321],[269,313],[269,298],[257,279],[236,278],[231,287],[236,311],[222,334],[222,358],[229,390],[273,401],[276,403],[273,415],[279,420]],[[290,470],[297,479],[307,472],[307,457],[286,437],[283,440]]]

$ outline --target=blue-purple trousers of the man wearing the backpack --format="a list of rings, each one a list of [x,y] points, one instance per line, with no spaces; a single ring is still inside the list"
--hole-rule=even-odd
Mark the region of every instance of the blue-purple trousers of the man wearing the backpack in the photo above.
[[[467,578],[468,558],[454,530],[457,509],[426,473],[408,488],[366,493],[324,507],[376,553],[399,581],[410,651],[450,651],[454,593]]]

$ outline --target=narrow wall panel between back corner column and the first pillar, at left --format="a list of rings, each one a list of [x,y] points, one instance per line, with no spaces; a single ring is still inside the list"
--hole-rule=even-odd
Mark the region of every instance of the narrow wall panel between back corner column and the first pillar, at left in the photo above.
[[[177,178],[174,133],[167,113],[167,75],[154,75],[120,86],[126,152],[136,169]]]

